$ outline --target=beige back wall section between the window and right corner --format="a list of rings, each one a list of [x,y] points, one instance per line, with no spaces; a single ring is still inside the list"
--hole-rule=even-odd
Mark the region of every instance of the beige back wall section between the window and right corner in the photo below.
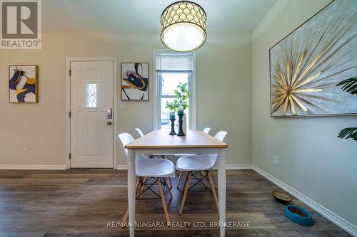
[[[197,129],[226,130],[227,163],[252,164],[251,34],[211,36],[197,70]]]

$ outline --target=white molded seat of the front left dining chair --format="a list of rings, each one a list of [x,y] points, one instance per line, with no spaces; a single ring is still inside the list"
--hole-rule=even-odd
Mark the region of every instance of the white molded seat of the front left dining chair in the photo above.
[[[167,159],[148,159],[136,155],[135,164],[138,177],[175,177],[175,165]]]

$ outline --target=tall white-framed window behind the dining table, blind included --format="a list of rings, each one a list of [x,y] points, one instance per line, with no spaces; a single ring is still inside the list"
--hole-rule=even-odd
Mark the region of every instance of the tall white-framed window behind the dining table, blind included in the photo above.
[[[173,53],[171,51],[155,53],[155,96],[154,127],[169,129],[169,109],[166,102],[176,98],[174,91],[178,83],[188,83],[188,109],[186,109],[188,129],[196,129],[196,84],[193,53]]]

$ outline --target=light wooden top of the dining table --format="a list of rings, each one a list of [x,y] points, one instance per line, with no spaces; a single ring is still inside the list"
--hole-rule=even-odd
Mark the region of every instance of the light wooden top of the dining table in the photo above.
[[[228,144],[202,131],[187,131],[186,136],[169,135],[168,130],[156,130],[125,146],[127,149],[164,148],[227,148]]]

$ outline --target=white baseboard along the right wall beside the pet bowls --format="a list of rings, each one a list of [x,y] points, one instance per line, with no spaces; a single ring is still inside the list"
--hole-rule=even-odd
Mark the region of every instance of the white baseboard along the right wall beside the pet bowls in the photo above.
[[[326,207],[318,204],[316,201],[309,199],[304,194],[301,194],[301,192],[297,191],[296,189],[293,189],[291,186],[288,186],[287,184],[283,183],[279,179],[276,179],[276,177],[273,177],[271,174],[268,174],[267,172],[263,171],[263,169],[260,169],[255,165],[252,165],[252,168],[255,172],[261,174],[261,176],[265,177],[273,184],[276,184],[284,191],[287,191],[289,194],[295,196],[296,199],[303,202],[303,204],[306,204],[306,206],[309,206],[311,209],[315,210],[316,212],[327,218],[332,223],[335,223],[336,226],[339,226],[346,232],[350,233],[352,236],[357,236],[357,226],[353,225],[353,223],[346,221],[341,216],[338,216],[337,214],[333,213],[333,211],[330,211],[329,209],[326,209]]]

